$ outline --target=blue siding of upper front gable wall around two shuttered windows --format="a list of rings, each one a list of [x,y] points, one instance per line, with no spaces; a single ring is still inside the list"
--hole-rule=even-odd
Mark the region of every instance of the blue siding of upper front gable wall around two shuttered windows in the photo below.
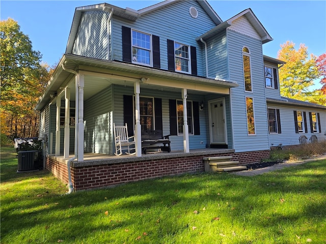
[[[198,18],[189,15],[189,7],[198,10]],[[164,23],[164,24],[163,24]],[[197,71],[199,76],[206,76],[204,49],[196,38],[215,27],[213,21],[196,1],[178,1],[162,9],[158,9],[140,17],[135,22],[126,23],[121,19],[112,19],[113,59],[122,60],[121,26],[127,26],[138,31],[156,35],[160,38],[161,69],[168,69],[167,39],[195,46],[197,49]]]

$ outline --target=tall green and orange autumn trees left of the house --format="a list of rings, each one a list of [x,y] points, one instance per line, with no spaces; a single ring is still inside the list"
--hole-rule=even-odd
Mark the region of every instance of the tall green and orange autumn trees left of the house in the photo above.
[[[6,115],[2,126],[11,138],[37,136],[34,106],[48,79],[48,66],[40,64],[42,55],[11,18],[0,22],[0,50],[0,109]]]

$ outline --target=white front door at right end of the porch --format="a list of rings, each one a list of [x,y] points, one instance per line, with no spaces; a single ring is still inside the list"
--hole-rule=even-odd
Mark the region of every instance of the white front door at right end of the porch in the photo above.
[[[224,99],[209,102],[210,109],[210,143],[227,144],[225,129],[225,102]]]

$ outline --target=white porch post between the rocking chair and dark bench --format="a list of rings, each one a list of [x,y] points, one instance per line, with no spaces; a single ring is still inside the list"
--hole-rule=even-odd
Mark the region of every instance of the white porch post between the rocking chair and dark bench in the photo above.
[[[134,95],[135,95],[135,117],[136,117],[136,126],[135,126],[135,150],[136,157],[142,156],[142,128],[140,120],[140,105],[139,105],[139,94],[141,93],[141,87],[139,82],[134,83]]]

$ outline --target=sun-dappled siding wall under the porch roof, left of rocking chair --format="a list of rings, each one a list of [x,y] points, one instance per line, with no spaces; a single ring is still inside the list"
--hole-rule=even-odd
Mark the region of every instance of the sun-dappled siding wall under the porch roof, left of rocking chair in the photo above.
[[[112,86],[102,90],[84,105],[85,152],[112,154]]]

